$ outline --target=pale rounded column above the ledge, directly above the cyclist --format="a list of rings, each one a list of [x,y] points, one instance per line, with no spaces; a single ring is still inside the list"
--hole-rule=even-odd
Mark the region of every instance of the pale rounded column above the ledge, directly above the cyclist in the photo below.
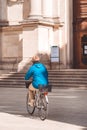
[[[29,18],[38,18],[42,16],[42,0],[29,0]]]

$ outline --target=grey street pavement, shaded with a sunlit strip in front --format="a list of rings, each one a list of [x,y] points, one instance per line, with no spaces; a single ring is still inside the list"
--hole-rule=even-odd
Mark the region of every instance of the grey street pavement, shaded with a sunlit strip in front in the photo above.
[[[26,93],[25,88],[0,88],[0,130],[87,130],[86,89],[54,89],[45,121],[37,111],[28,115]]]

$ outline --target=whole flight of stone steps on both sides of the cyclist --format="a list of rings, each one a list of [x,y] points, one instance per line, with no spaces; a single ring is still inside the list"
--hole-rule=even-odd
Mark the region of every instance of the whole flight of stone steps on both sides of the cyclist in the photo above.
[[[86,69],[49,70],[52,87],[87,87]],[[0,76],[0,87],[25,87],[24,72],[10,72]]]

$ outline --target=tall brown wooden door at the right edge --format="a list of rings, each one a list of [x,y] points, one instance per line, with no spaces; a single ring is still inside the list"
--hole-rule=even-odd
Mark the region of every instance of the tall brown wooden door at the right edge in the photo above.
[[[74,68],[87,68],[87,0],[73,0]]]

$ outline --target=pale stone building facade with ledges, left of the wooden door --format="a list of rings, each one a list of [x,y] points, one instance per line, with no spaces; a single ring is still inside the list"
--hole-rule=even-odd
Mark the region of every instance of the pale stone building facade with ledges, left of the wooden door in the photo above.
[[[73,0],[0,0],[0,69],[27,69],[36,53],[48,69],[74,68],[73,49]]]

